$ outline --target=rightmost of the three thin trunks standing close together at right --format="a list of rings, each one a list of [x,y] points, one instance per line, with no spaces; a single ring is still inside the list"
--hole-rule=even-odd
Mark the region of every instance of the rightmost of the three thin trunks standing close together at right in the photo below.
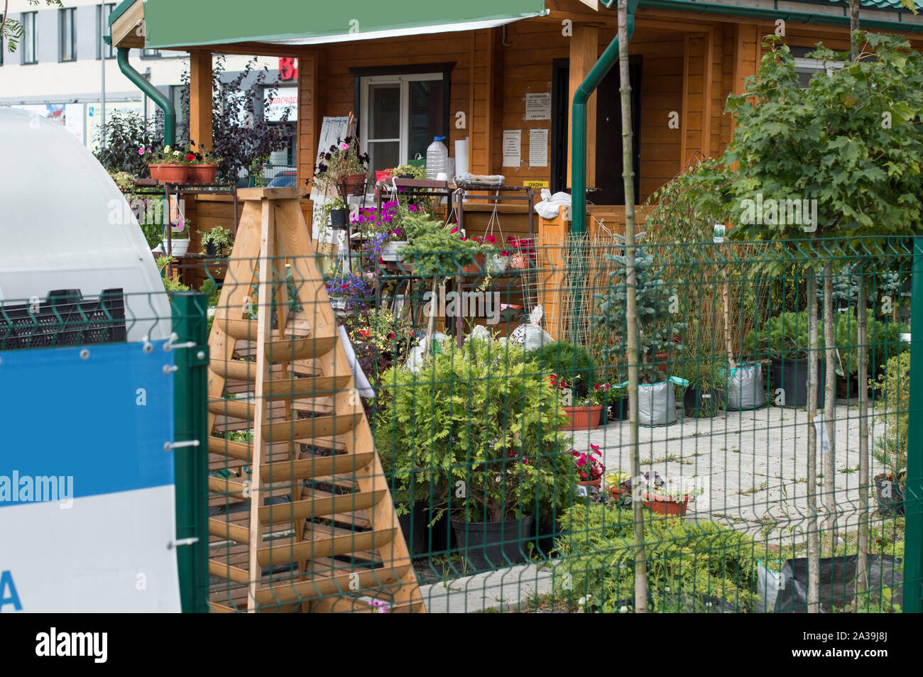
[[[853,597],[853,612],[856,611],[858,596],[869,588],[869,349],[866,327],[866,291],[862,270],[857,273],[858,303],[856,341],[859,350],[859,537],[856,558],[856,595]]]

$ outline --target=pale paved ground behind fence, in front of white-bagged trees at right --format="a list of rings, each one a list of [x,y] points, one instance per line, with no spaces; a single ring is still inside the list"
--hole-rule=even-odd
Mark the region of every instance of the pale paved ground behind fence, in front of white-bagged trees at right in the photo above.
[[[834,414],[838,523],[855,527],[858,496],[858,407],[837,404]],[[869,446],[883,424],[871,427]],[[599,445],[607,470],[630,472],[628,422],[574,434],[574,448]],[[711,419],[686,418],[660,428],[641,427],[641,469],[692,482],[704,493],[689,504],[689,517],[708,518],[737,529],[772,526],[795,540],[808,517],[808,412],[775,406],[725,411]],[[823,501],[820,445],[818,504]],[[870,476],[881,472],[872,463]],[[874,497],[871,498],[874,508]],[[822,511],[821,511],[822,514]]]

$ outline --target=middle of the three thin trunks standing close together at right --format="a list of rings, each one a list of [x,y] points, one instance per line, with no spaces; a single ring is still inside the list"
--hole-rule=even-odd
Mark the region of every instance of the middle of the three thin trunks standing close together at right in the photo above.
[[[823,426],[826,431],[827,447],[823,458],[823,493],[827,511],[824,541],[826,551],[833,557],[836,548],[836,439],[833,437],[833,417],[836,414],[836,339],[833,327],[833,263],[823,267],[823,347],[824,376],[826,387],[823,393]]]

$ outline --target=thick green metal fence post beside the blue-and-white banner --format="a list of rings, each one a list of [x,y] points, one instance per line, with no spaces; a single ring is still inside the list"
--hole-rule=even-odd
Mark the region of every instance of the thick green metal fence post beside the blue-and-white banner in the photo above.
[[[194,343],[174,352],[174,439],[198,440],[198,446],[174,449],[176,491],[176,540],[198,539],[176,550],[180,597],[184,613],[209,611],[209,531],[206,389],[209,365],[206,296],[198,291],[171,295],[175,343]]]

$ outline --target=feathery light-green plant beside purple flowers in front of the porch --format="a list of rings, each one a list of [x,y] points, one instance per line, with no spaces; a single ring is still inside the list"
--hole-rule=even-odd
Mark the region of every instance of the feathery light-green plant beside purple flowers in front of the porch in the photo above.
[[[462,238],[455,226],[444,225],[426,214],[408,216],[403,222],[410,244],[402,249],[404,259],[414,262],[414,274],[426,278],[449,278],[461,267],[474,263],[480,249],[473,240]]]

